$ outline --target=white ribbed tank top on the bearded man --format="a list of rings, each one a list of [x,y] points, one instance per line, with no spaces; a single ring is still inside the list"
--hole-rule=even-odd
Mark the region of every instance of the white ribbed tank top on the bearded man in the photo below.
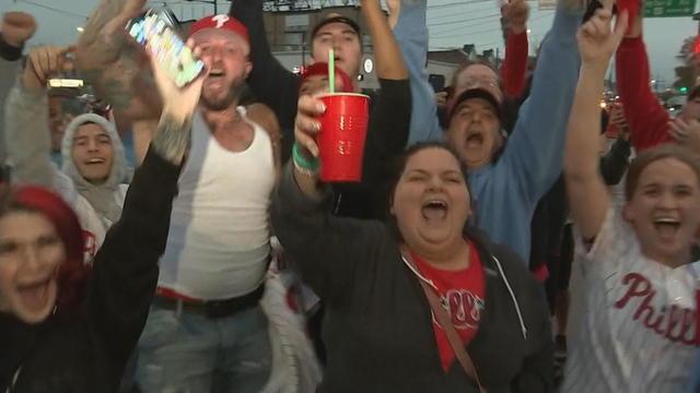
[[[268,133],[231,152],[213,138],[201,114],[192,119],[191,148],[178,180],[159,286],[202,300],[238,297],[262,281],[270,252],[268,210],[275,159]]]

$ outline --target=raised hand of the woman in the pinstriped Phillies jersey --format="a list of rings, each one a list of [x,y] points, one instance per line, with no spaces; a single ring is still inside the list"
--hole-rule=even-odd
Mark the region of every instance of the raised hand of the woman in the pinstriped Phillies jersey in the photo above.
[[[615,0],[604,0],[603,8],[579,29],[579,51],[583,66],[607,69],[610,58],[620,46],[627,29],[628,14],[622,12],[611,27]]]

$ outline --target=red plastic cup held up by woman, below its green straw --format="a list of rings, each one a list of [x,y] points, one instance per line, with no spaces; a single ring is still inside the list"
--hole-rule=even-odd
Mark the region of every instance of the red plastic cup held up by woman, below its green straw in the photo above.
[[[326,182],[360,181],[370,97],[364,94],[336,93],[318,98],[326,105],[326,112],[318,119],[320,179]]]

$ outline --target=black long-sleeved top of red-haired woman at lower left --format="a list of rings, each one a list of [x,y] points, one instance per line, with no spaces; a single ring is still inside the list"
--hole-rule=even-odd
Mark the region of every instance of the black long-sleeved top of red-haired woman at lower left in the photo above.
[[[0,392],[116,392],[145,324],[165,249],[179,169],[152,151],[136,171],[124,212],[95,255],[82,318],[27,325],[0,313]]]

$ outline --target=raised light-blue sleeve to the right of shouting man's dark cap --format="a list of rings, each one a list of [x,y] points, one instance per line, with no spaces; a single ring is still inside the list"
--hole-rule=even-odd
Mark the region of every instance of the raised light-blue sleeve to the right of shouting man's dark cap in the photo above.
[[[574,9],[575,11],[571,11]],[[576,31],[583,10],[560,1],[555,22],[540,47],[529,98],[497,163],[510,167],[513,181],[533,206],[561,174],[567,122],[580,69]]]

